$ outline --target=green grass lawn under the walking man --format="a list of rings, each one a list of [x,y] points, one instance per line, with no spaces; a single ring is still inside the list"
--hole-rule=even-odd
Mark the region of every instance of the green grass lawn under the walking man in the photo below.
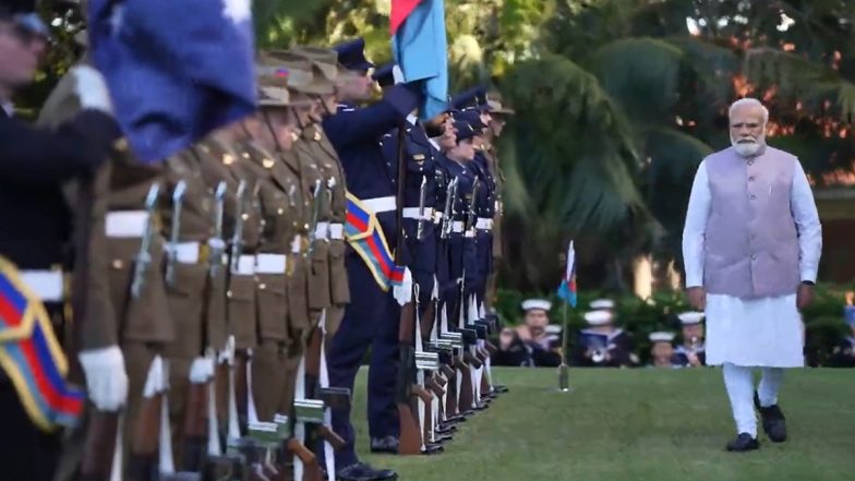
[[[369,454],[366,371],[358,378],[359,450],[419,481],[727,481],[855,479],[855,371],[787,372],[781,407],[790,441],[731,454],[735,431],[718,369],[495,370],[510,393],[461,423],[438,456]]]

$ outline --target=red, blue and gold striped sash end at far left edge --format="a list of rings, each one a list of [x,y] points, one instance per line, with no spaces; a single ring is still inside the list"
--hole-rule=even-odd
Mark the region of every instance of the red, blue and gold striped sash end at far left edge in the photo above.
[[[74,426],[86,400],[65,381],[68,361],[41,301],[0,257],[0,368],[15,386],[29,419],[50,432]]]

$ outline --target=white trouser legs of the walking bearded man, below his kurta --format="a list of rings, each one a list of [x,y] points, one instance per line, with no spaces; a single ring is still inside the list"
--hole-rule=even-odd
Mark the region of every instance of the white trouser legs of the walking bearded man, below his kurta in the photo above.
[[[736,433],[748,433],[757,437],[757,416],[754,410],[754,378],[751,368],[725,363],[724,386],[731,398],[733,420],[736,422]],[[778,404],[778,392],[784,378],[781,368],[762,368],[762,377],[757,388],[760,406],[767,408]]]

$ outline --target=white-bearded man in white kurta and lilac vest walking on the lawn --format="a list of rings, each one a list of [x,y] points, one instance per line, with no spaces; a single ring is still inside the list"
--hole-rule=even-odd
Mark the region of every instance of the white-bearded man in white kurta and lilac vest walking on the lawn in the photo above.
[[[778,392],[784,368],[804,366],[799,310],[814,296],[821,227],[807,177],[794,156],[766,145],[768,110],[731,106],[732,146],[695,177],[683,232],[686,288],[707,314],[707,363],[722,365],[737,437],[727,449],[759,447],[755,407],[773,442],[786,440]],[[755,392],[751,369],[761,368]]]

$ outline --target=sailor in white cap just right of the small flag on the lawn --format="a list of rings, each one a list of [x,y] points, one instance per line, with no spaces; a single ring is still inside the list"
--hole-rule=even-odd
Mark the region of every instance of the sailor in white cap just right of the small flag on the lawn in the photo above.
[[[638,356],[633,352],[634,342],[629,334],[615,327],[614,314],[609,310],[585,313],[590,328],[579,332],[573,349],[571,363],[588,368],[630,368],[638,365]]]

